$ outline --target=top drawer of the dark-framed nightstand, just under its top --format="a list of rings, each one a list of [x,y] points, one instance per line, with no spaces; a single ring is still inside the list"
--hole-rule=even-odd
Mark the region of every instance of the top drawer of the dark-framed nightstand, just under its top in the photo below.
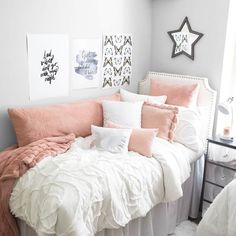
[[[236,160],[236,149],[209,143],[208,159],[222,162]]]

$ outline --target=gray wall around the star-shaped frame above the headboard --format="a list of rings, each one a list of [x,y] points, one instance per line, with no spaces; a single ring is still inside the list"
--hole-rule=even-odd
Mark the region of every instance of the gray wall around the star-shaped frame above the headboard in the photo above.
[[[229,0],[153,0],[153,71],[209,78],[219,90],[224,55]],[[167,31],[180,27],[188,16],[193,30],[204,34],[195,46],[195,60],[180,55],[171,58],[173,43]]]

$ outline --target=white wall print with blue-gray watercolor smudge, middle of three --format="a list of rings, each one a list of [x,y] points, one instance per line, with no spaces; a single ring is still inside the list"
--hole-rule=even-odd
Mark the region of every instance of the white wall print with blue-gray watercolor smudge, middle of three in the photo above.
[[[100,39],[74,39],[72,41],[72,89],[99,87]]]

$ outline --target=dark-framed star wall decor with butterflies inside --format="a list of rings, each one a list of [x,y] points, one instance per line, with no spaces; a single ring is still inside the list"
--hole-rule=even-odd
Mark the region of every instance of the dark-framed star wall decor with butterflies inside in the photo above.
[[[168,34],[174,43],[171,57],[184,54],[194,60],[194,46],[203,34],[192,30],[188,17],[184,18],[178,30],[169,31]]]

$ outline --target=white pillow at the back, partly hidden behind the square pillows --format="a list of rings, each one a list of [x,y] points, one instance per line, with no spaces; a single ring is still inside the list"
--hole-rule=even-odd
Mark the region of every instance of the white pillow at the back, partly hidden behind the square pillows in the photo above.
[[[154,104],[164,104],[167,96],[149,96],[137,93],[131,93],[127,90],[120,89],[121,101],[125,102],[149,102]]]

